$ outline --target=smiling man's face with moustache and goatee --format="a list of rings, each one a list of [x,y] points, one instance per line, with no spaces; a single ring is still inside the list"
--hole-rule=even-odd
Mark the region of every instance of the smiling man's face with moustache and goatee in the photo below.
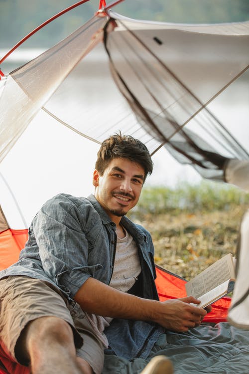
[[[94,171],[95,197],[110,218],[119,223],[119,217],[136,205],[143,181],[144,170],[139,164],[116,158],[102,176],[97,170]]]

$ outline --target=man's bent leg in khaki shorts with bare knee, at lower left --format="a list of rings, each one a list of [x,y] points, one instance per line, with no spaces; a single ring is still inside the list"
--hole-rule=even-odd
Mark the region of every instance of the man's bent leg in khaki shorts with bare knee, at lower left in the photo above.
[[[83,339],[65,300],[50,284],[25,276],[0,281],[0,341],[12,362],[31,365],[33,373],[44,367],[43,374],[92,374],[85,356],[76,358]],[[52,371],[51,363],[57,367]]]

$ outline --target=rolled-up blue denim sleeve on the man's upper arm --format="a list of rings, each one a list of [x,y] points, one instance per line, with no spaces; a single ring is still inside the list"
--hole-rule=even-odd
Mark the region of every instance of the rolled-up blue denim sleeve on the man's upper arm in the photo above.
[[[61,194],[47,201],[33,220],[42,268],[71,298],[102,267],[88,263],[87,221],[99,218],[91,217],[91,214],[98,215],[90,208],[90,203],[85,204],[83,209],[82,204],[79,206],[70,197]],[[92,237],[97,240],[100,225],[95,224],[94,229]]]

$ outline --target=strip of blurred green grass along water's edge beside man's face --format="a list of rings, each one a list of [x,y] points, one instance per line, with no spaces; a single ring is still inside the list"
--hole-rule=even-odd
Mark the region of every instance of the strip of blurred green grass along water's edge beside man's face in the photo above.
[[[249,194],[237,187],[207,181],[199,185],[184,183],[175,189],[145,187],[132,215],[142,217],[147,214],[229,211],[244,204],[249,204]]]

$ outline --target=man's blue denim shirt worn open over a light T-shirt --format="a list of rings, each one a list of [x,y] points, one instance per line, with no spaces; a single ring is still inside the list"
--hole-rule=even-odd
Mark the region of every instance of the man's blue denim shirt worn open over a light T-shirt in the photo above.
[[[138,248],[141,287],[137,296],[158,300],[151,236],[125,216],[121,224],[134,238]],[[110,283],[116,241],[116,224],[94,195],[85,198],[58,194],[36,214],[19,260],[2,270],[0,279],[26,275],[45,280],[72,300],[89,277]],[[105,330],[110,345],[106,353],[129,360],[146,358],[162,332],[163,329],[153,323],[114,319]]]

